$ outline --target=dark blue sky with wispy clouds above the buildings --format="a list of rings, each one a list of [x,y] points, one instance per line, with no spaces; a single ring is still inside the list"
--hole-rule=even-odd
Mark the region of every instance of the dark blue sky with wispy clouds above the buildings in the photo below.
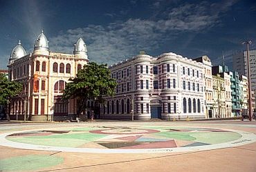
[[[82,37],[90,61],[112,65],[139,54],[207,55],[232,67],[232,54],[252,40],[256,49],[256,1],[0,0],[0,69],[21,40],[27,54],[41,30],[55,52],[73,52]]]

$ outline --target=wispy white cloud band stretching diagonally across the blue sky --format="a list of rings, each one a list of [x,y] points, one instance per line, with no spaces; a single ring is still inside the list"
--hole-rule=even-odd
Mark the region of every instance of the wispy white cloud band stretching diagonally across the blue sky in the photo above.
[[[88,46],[91,61],[111,65],[138,54],[140,50],[153,52],[167,40],[175,39],[177,34],[212,28],[221,21],[221,12],[226,12],[233,3],[186,3],[172,8],[167,12],[166,19],[128,19],[106,26],[88,25],[60,32],[49,39],[50,46],[51,50],[72,52],[73,43],[82,36]]]

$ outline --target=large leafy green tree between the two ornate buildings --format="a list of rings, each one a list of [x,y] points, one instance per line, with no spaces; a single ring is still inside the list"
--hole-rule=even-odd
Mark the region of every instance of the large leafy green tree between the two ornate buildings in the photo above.
[[[102,104],[105,96],[113,96],[116,92],[117,83],[111,78],[107,64],[98,65],[95,62],[89,62],[77,72],[75,78],[70,80],[72,82],[66,85],[62,98],[77,99],[77,116],[81,116],[82,112],[89,108],[86,106],[88,100]]]

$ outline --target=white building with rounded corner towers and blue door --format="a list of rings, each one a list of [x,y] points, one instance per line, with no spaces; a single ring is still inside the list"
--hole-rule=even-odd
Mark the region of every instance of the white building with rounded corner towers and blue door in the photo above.
[[[202,63],[170,52],[139,54],[109,68],[118,86],[102,106],[102,118],[205,118]]]

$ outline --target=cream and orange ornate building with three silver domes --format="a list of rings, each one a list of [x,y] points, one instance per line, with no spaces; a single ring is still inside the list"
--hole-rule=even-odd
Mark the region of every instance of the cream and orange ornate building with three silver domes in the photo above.
[[[33,52],[27,54],[19,41],[10,54],[9,80],[23,84],[22,93],[10,100],[11,119],[59,120],[73,118],[76,102],[61,100],[69,78],[88,62],[87,49],[82,38],[75,43],[73,54],[50,51],[42,31],[37,37]]]

